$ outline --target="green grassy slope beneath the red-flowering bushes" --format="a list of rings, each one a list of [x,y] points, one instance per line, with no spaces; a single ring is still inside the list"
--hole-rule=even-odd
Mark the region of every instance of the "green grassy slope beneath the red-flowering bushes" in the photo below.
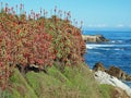
[[[64,71],[53,65],[47,73],[28,72],[23,76],[15,69],[11,90],[5,98],[110,98],[111,86],[98,85],[85,64]]]

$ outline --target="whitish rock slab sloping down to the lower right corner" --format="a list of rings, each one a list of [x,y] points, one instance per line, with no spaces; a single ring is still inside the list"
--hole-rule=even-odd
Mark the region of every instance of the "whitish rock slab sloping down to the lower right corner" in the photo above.
[[[95,72],[95,78],[99,84],[108,84],[116,87],[116,90],[111,94],[111,98],[131,98],[131,88],[117,77],[114,77],[106,72],[97,71]]]

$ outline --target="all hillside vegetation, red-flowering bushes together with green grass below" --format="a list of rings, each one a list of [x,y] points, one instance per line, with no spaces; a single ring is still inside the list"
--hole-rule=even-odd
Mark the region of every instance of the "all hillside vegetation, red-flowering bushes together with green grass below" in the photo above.
[[[1,4],[1,98],[111,98],[115,87],[99,85],[84,62],[81,26],[72,25],[70,11],[62,19],[57,8],[50,17],[15,9]]]

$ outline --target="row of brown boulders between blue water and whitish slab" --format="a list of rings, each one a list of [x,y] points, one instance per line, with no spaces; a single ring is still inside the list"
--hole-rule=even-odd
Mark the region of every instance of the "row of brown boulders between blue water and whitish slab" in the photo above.
[[[129,75],[128,73],[122,71],[120,68],[117,68],[117,66],[114,66],[114,65],[110,65],[109,69],[106,69],[102,62],[98,62],[94,65],[93,70],[95,72],[96,71],[106,72],[109,75],[115,76],[119,79],[131,81],[131,75]]]

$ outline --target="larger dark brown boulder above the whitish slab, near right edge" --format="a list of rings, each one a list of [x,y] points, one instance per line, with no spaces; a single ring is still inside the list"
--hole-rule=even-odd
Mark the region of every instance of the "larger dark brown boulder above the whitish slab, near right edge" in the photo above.
[[[119,79],[126,79],[126,73],[119,68],[110,66],[107,73]]]

